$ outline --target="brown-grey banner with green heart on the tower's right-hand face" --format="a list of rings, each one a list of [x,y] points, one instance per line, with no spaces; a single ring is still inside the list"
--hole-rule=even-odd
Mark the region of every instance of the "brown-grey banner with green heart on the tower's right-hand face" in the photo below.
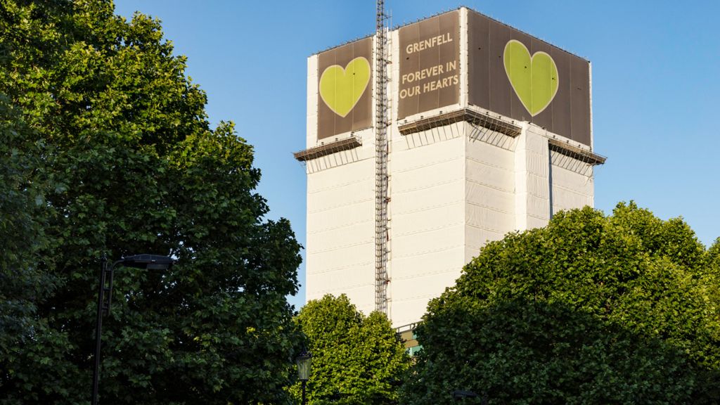
[[[590,145],[588,61],[472,10],[468,26],[469,104]]]

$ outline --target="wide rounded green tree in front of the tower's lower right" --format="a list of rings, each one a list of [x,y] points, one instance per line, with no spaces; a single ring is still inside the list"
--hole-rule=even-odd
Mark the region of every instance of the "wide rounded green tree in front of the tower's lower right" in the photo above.
[[[429,304],[403,402],[468,389],[489,404],[717,404],[712,256],[634,203],[487,244]]]

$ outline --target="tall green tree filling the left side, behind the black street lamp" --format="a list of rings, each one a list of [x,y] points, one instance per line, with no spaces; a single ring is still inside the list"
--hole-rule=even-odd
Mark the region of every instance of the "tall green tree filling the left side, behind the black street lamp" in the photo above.
[[[300,245],[185,67],[112,1],[0,0],[0,404],[89,403],[99,258],[138,253],[177,262],[116,271],[102,403],[289,401]]]

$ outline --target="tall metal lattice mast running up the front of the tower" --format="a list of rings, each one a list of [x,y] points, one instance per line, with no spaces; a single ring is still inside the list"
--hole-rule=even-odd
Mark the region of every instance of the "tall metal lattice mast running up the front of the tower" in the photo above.
[[[375,309],[387,311],[387,30],[384,0],[376,3],[375,35]]]

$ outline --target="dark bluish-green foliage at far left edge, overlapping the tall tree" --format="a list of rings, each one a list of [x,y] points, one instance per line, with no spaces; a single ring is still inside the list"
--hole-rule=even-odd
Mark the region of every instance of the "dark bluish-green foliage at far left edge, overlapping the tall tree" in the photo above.
[[[34,181],[42,165],[42,144],[17,108],[0,95],[0,389],[15,372],[14,352],[53,337],[35,317],[55,280],[40,265],[45,216],[42,192]],[[48,352],[48,355],[50,353]],[[42,370],[45,357],[24,357],[24,367]],[[0,398],[0,401],[2,399]]]

